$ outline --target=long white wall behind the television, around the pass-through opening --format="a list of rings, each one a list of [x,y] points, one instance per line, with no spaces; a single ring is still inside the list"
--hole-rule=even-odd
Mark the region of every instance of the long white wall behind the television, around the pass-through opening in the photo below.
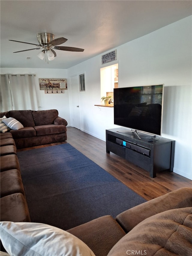
[[[174,172],[189,179],[192,179],[191,24],[192,16],[116,47],[120,87],[165,84],[162,136],[176,140]],[[79,94],[81,130],[105,140],[105,130],[117,126],[113,124],[113,108],[94,106],[101,103],[101,67],[98,55],[67,72],[70,77],[85,71],[86,93]]]

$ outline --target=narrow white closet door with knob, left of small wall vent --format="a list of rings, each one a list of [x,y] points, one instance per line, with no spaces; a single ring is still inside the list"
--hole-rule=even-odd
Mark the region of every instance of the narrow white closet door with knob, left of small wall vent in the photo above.
[[[75,75],[70,77],[71,84],[71,125],[77,129],[81,128],[80,125],[80,105],[79,105],[79,76]]]

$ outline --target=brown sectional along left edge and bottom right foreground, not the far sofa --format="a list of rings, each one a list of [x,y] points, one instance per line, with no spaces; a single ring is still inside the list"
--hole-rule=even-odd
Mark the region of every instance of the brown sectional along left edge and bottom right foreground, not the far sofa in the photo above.
[[[10,133],[1,134],[0,139],[1,221],[30,222],[14,140]],[[9,167],[5,167],[7,158],[12,162]],[[192,188],[180,188],[142,203],[115,219],[102,216],[67,231],[85,242],[96,256],[191,256]]]

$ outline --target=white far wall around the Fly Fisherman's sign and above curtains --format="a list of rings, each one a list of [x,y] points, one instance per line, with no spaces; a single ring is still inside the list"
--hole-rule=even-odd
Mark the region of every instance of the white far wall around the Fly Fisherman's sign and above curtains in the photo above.
[[[1,74],[36,74],[35,86],[38,97],[38,110],[57,109],[59,116],[70,125],[69,91],[64,93],[46,94],[39,88],[39,78],[67,78],[65,69],[45,68],[1,68]]]

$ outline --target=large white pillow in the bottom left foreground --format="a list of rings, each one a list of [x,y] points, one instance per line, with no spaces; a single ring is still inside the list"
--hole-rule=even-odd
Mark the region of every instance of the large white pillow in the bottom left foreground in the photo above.
[[[76,236],[33,222],[0,222],[0,239],[11,256],[95,256]]]

